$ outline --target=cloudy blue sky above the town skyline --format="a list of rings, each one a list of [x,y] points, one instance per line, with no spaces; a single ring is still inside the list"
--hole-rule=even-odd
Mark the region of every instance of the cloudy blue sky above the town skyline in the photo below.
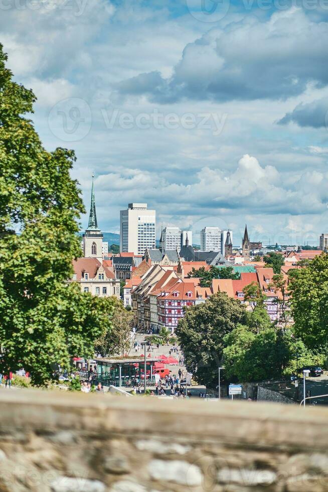
[[[317,245],[328,232],[328,0],[0,0],[0,42],[47,150],[98,224]],[[87,226],[87,214],[81,227]]]

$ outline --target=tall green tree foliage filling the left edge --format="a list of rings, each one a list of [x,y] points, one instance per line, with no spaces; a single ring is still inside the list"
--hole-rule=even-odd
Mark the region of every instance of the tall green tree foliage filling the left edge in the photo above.
[[[0,372],[24,366],[43,385],[58,365],[93,355],[113,308],[64,285],[81,254],[75,156],[43,148],[24,116],[35,96],[12,81],[6,61],[0,45]]]

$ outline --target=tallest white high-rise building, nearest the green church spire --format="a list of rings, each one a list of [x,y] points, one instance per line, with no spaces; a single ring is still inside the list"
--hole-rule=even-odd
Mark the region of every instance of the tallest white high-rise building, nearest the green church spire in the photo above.
[[[154,250],[155,228],[155,210],[148,210],[146,203],[129,203],[120,211],[120,252],[143,255],[146,249]]]

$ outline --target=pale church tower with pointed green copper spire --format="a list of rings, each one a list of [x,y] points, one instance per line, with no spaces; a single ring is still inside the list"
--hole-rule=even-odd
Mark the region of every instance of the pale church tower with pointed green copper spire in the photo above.
[[[83,256],[84,258],[97,258],[102,261],[102,239],[103,234],[98,228],[96,202],[94,198],[94,176],[92,175],[91,206],[88,228],[83,234]]]

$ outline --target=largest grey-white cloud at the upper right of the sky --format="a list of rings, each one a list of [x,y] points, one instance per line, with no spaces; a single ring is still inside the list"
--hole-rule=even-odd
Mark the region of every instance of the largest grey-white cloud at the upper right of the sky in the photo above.
[[[189,43],[171,78],[142,73],[121,81],[116,90],[159,103],[286,99],[301,94],[309,83],[327,85],[327,27],[296,8],[266,22],[245,17]]]

